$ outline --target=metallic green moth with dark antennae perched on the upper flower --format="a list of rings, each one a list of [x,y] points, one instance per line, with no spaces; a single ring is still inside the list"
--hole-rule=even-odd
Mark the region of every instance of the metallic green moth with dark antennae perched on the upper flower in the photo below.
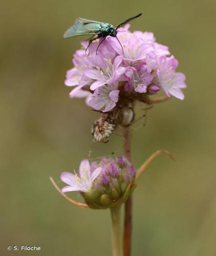
[[[127,24],[128,22],[131,22],[131,20],[138,18],[141,15],[142,15],[142,13],[126,19],[124,22],[119,24],[116,28],[114,28],[114,26],[109,23],[96,22],[95,20],[85,19],[85,18],[78,18],[76,20],[75,24],[64,33],[63,37],[69,38],[69,37],[79,36],[79,35],[93,35],[89,39],[89,45],[88,45],[87,49],[89,48],[89,46],[91,45],[91,43],[94,40],[102,37],[103,39],[97,47],[97,50],[98,50],[99,46],[106,39],[106,36],[109,36],[109,35],[116,37],[119,44],[121,45],[121,43],[117,37],[118,29],[121,28],[122,26],[124,26],[125,24]],[[122,45],[121,45],[121,48],[123,51]],[[85,53],[87,52],[87,49],[85,50]],[[97,50],[96,50],[96,54],[97,54]]]

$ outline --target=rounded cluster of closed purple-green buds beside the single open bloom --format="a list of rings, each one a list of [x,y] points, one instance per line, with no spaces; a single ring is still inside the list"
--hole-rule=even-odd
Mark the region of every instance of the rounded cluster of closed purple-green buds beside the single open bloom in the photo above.
[[[93,164],[91,164],[91,167]],[[105,209],[123,203],[132,193],[136,171],[125,157],[102,158],[97,165],[101,173],[93,181],[90,191],[81,192],[91,208]]]

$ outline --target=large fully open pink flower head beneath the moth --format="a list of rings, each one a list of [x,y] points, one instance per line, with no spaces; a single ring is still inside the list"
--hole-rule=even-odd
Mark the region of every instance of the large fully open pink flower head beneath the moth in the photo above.
[[[92,42],[81,42],[82,49],[73,56],[74,68],[67,72],[65,84],[74,87],[70,97],[86,97],[88,105],[103,112],[112,110],[121,97],[156,94],[181,100],[186,88],[185,75],[176,72],[178,61],[170,56],[168,47],[156,42],[153,33],[128,30],[129,25],[118,30],[118,38],[108,36]]]

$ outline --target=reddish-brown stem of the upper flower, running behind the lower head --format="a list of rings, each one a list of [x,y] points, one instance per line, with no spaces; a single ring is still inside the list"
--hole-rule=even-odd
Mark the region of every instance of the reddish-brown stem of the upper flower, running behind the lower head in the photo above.
[[[130,127],[124,127],[124,155],[131,162],[131,131]],[[132,196],[125,202],[124,207],[124,237],[123,255],[131,255],[132,240]]]

